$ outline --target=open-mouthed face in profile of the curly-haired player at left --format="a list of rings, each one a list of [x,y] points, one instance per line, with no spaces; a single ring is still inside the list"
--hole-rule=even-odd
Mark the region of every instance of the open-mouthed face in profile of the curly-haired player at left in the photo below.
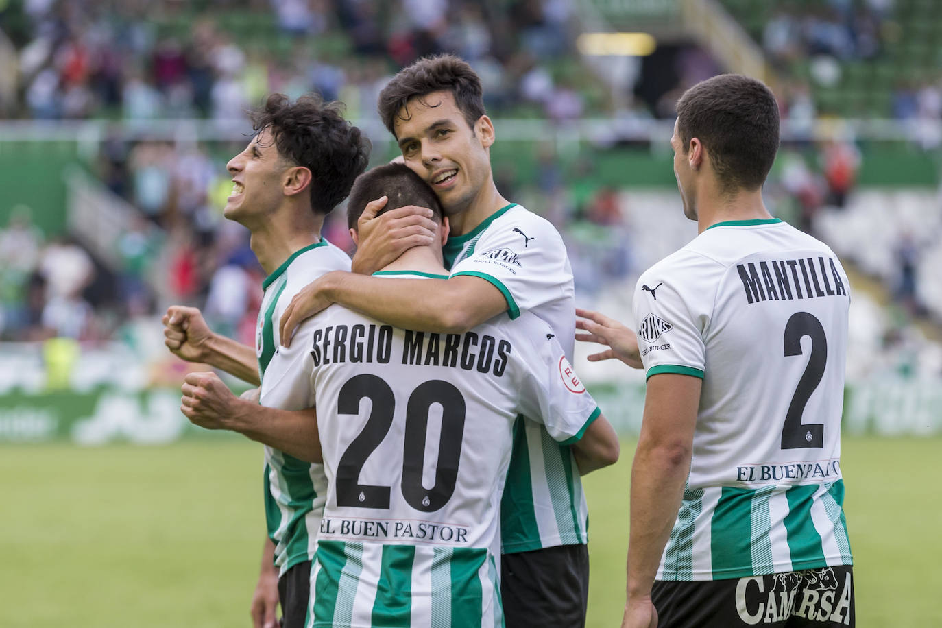
[[[226,164],[233,175],[233,191],[222,215],[246,226],[252,217],[268,216],[284,200],[285,175],[292,167],[278,153],[268,129],[252,137],[245,150]]]

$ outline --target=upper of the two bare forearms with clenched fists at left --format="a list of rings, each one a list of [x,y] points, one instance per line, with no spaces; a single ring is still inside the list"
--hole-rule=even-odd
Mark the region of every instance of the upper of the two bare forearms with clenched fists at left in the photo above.
[[[173,355],[209,364],[256,386],[261,383],[255,350],[210,330],[197,308],[171,305],[163,324],[164,345]]]

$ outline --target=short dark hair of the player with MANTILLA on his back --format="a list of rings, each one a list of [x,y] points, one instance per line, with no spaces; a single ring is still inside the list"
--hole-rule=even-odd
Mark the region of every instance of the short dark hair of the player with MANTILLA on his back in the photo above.
[[[765,183],[778,151],[778,104],[761,81],[721,74],[697,83],[677,101],[684,153],[697,137],[707,148],[723,192]]]

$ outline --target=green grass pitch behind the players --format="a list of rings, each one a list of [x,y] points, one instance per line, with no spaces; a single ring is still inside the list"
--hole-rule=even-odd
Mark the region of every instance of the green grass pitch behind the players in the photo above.
[[[942,626],[940,448],[844,439],[861,628]],[[632,451],[585,478],[590,628],[621,620]],[[0,447],[0,626],[250,626],[262,464],[236,438]]]

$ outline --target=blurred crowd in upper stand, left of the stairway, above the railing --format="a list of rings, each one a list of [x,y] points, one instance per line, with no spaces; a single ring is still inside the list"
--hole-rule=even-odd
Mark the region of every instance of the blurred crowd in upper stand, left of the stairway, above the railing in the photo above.
[[[583,113],[571,3],[542,0],[24,0],[0,15],[19,52],[7,117],[233,120],[268,92],[312,89],[372,116],[391,71],[455,52],[488,107]],[[554,75],[555,74],[555,75]]]

